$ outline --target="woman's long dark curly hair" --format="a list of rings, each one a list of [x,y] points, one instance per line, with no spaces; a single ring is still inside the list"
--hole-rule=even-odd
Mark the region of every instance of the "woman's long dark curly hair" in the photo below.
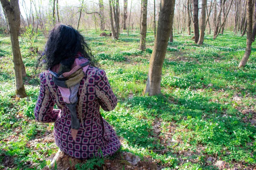
[[[59,64],[63,59],[66,59],[69,63],[67,66],[71,67],[79,52],[94,66],[95,59],[84,37],[72,26],[59,24],[49,34],[43,59],[46,61],[47,69]]]

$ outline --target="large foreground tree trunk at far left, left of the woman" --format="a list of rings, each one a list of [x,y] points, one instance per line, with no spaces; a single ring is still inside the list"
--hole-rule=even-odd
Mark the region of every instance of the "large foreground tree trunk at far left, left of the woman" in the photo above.
[[[22,59],[20,54],[20,45],[18,31],[20,28],[20,8],[18,0],[0,0],[3,9],[6,13],[8,25],[9,25],[9,34],[12,44],[12,57],[14,63],[14,72],[15,72],[15,90],[16,96],[20,98],[26,97],[26,91],[23,85],[22,79]]]

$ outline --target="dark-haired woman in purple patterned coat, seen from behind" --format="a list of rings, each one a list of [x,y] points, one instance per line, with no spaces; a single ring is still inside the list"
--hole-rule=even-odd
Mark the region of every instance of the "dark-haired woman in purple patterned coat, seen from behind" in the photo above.
[[[48,71],[40,74],[35,106],[38,122],[55,122],[55,143],[69,156],[88,159],[112,156],[120,141],[99,113],[116,107],[116,96],[105,71],[94,67],[93,56],[82,35],[71,26],[52,29],[44,60]],[[58,109],[53,109],[54,105]]]

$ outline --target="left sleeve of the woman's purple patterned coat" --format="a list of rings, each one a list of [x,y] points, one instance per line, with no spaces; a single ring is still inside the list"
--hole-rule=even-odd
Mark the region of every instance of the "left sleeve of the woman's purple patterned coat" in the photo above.
[[[49,123],[55,122],[61,110],[53,109],[55,103],[49,93],[45,76],[45,73],[40,74],[40,92],[35,105],[34,114],[36,121]]]

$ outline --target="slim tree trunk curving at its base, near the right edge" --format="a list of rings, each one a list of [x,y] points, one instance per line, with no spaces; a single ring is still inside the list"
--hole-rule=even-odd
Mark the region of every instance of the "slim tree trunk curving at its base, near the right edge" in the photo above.
[[[247,0],[247,40],[244,57],[239,63],[239,68],[244,67],[250,57],[252,48],[252,29],[253,29],[253,2]]]

